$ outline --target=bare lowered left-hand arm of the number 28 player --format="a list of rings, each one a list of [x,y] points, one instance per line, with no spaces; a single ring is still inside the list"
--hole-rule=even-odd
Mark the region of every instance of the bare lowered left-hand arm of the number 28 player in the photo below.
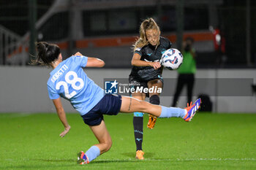
[[[67,123],[67,117],[66,117],[66,113],[61,104],[61,98],[53,99],[53,104],[58,113],[59,120],[61,120],[61,123],[64,125],[64,128],[65,128],[64,131],[61,132],[61,134],[59,134],[59,136],[64,137],[69,132],[70,125],[69,125],[69,123]]]

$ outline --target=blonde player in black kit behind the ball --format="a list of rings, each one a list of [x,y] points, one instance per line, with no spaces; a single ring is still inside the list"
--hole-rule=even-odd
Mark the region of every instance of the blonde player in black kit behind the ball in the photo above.
[[[160,29],[153,18],[148,18],[140,24],[140,38],[135,42],[134,55],[132,57],[132,72],[129,74],[129,83],[135,88],[162,88],[162,66],[159,61],[162,53],[171,47],[171,42],[160,36]],[[149,97],[151,104],[159,105],[159,92],[132,93],[132,97],[145,100]],[[143,142],[143,112],[135,112],[133,127],[135,133],[137,159],[144,159],[142,150]],[[157,117],[149,115],[148,128],[154,128]]]

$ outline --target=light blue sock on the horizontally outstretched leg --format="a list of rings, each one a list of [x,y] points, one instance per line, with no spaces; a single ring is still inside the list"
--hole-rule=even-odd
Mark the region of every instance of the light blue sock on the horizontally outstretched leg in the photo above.
[[[159,117],[181,117],[186,115],[186,109],[178,107],[162,107],[162,112]]]

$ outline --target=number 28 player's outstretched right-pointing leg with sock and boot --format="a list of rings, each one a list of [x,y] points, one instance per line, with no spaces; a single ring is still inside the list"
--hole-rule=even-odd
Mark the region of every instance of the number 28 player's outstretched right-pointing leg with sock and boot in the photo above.
[[[150,104],[147,101],[140,101],[136,98],[122,96],[120,112],[146,112],[156,117],[181,117],[185,121],[190,121],[199,109],[201,99],[198,98],[194,104],[186,109],[178,107],[163,107],[160,105]]]

